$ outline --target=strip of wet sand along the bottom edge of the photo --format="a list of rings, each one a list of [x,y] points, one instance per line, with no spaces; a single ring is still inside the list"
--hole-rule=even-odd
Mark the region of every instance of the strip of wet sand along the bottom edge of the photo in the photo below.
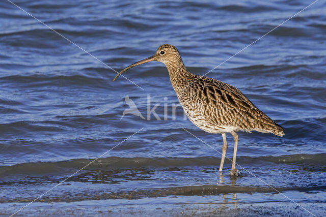
[[[324,216],[323,203],[305,204],[315,209],[317,216]],[[317,209],[317,210],[316,210]],[[9,216],[13,208],[1,209],[1,216]],[[114,208],[102,206],[80,207],[29,207],[15,216],[313,216],[309,212],[298,208],[293,203],[256,203],[256,204],[227,204],[224,207],[215,207],[214,204],[180,204],[133,206],[122,205]]]

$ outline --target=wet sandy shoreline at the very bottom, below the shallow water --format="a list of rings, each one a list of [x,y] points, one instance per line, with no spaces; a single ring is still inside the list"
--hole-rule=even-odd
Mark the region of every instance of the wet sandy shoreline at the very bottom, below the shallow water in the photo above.
[[[15,216],[324,216],[324,203],[304,203],[298,207],[293,202],[261,203],[166,203],[168,198],[160,198],[160,204],[142,204],[137,200],[80,201],[72,203],[36,202],[24,208]],[[169,199],[168,199],[169,200]],[[137,203],[140,202],[140,203]],[[155,203],[157,203],[157,199]],[[119,205],[120,204],[120,205]],[[0,216],[9,216],[25,204],[6,203],[0,205]]]

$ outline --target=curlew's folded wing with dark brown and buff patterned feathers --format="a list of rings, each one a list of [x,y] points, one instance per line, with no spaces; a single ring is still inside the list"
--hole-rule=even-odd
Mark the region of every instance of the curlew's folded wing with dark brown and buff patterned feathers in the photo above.
[[[236,127],[241,130],[272,132],[277,123],[260,111],[240,90],[212,78],[201,77],[192,82],[181,95],[185,100],[196,102],[193,109],[212,125]]]

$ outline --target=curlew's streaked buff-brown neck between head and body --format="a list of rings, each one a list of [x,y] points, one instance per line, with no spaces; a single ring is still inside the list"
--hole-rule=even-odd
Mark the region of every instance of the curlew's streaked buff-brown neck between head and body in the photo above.
[[[187,77],[190,73],[185,68],[182,60],[178,61],[178,63],[166,63],[165,65],[169,71],[171,84],[177,92],[186,85]]]

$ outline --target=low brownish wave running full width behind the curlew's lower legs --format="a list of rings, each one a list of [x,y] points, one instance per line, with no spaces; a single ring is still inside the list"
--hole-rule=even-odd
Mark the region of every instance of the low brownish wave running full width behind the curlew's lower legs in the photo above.
[[[193,167],[193,166],[216,166],[220,158],[199,157],[199,158],[119,158],[108,157],[97,159],[85,170],[119,170],[137,168],[171,168],[171,167]],[[91,163],[93,159],[74,159],[61,162],[31,162],[11,166],[0,167],[0,176],[4,179],[12,176],[47,176],[73,173]],[[225,164],[231,162],[226,161]],[[266,164],[295,164],[295,165],[326,165],[326,153],[318,154],[292,154],[286,156],[265,156],[265,157],[239,157],[239,164],[266,165]]]

